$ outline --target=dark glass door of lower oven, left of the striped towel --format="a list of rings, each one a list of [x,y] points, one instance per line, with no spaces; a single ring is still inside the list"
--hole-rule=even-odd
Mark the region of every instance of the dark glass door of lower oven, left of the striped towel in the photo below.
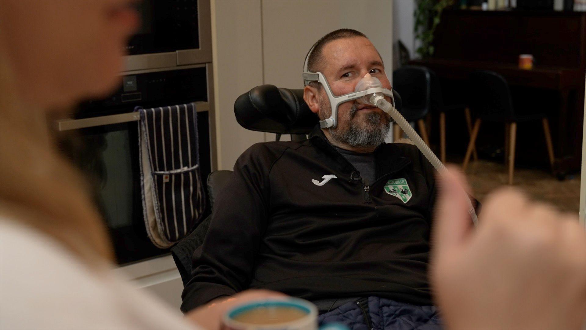
[[[151,243],[142,215],[138,122],[74,131],[64,150],[93,188],[118,264],[166,254]]]

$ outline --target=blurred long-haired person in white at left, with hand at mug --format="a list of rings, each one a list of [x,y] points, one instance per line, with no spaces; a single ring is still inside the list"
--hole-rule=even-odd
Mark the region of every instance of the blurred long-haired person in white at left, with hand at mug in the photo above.
[[[138,24],[128,1],[0,1],[0,328],[218,328],[243,292],[188,315],[115,278],[86,184],[47,117],[105,97]],[[178,314],[178,315],[175,315]]]

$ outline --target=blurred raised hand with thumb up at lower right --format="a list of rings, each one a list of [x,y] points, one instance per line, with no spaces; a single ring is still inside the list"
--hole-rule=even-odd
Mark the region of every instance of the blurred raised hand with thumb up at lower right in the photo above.
[[[431,260],[451,329],[579,329],[586,319],[586,231],[575,215],[500,190],[476,230],[458,170],[438,177]],[[468,189],[467,189],[468,190]],[[468,190],[469,191],[469,190]]]

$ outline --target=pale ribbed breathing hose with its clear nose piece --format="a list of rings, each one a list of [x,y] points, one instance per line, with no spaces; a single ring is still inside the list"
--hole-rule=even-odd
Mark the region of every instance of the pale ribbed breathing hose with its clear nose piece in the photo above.
[[[360,80],[360,82],[356,85],[355,92],[362,92],[363,90],[367,90],[370,88],[381,87],[381,83],[379,79],[370,76],[368,73]],[[407,134],[409,139],[415,143],[415,146],[423,153],[423,156],[427,158],[428,161],[432,164],[433,167],[442,175],[444,175],[448,170],[446,169],[445,165],[442,164],[440,159],[431,151],[430,147],[425,144],[423,139],[415,132],[413,127],[407,122],[407,120],[395,109],[393,105],[386,99],[384,99],[383,93],[371,93],[367,94],[364,97],[357,99],[357,102],[363,104],[369,104],[378,107],[379,109],[383,110],[384,112],[388,113],[391,117],[393,117],[394,121],[398,124],[399,127]],[[472,218],[474,225],[478,225],[478,217],[476,216],[476,211],[472,206],[472,201],[468,194],[465,191],[462,191],[465,196],[466,200],[468,201],[468,214]]]

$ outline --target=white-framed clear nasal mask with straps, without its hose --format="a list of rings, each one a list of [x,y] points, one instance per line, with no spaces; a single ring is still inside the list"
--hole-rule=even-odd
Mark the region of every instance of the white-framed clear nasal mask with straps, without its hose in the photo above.
[[[305,58],[304,64],[304,72],[303,72],[303,82],[304,85],[308,85],[309,82],[319,82],[322,84],[323,89],[326,91],[326,95],[328,95],[328,99],[330,101],[330,105],[332,106],[332,115],[326,120],[319,121],[319,127],[322,129],[326,128],[334,128],[338,125],[338,107],[340,104],[356,99],[363,99],[364,96],[370,94],[377,94],[377,95],[386,95],[391,98],[391,104],[395,104],[395,100],[393,97],[393,91],[383,88],[380,83],[380,80],[370,76],[368,73],[356,84],[356,88],[354,92],[347,93],[345,95],[334,96],[332,93],[332,89],[329,86],[328,80],[323,76],[321,72],[309,72],[307,68],[307,61],[309,59],[309,55],[314,49],[312,48],[309,50],[307,57]],[[358,100],[359,103],[366,104],[364,101]]]

